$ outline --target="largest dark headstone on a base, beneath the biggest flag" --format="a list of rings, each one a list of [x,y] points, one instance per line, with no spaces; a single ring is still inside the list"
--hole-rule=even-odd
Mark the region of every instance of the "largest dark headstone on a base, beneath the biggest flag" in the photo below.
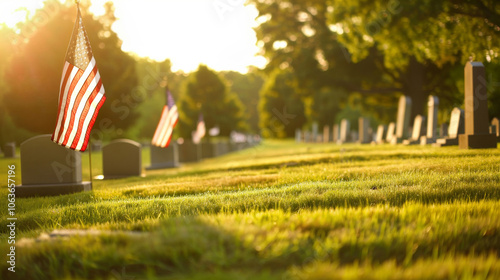
[[[16,197],[56,196],[92,190],[82,181],[82,154],[59,146],[51,135],[39,135],[21,144],[21,180]]]

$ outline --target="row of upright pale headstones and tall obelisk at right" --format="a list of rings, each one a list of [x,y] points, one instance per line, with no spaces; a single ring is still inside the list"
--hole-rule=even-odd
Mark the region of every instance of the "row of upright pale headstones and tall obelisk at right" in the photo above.
[[[488,122],[488,104],[486,93],[486,78],[484,66],[480,62],[468,62],[465,66],[465,111],[454,108],[451,112],[450,123],[442,124],[438,129],[437,116],[439,98],[429,96],[427,102],[427,117],[417,115],[413,121],[410,134],[410,116],[412,100],[408,96],[401,96],[398,104],[396,123],[388,127],[380,125],[373,137],[369,120],[359,118],[358,132],[350,131],[349,120],[343,119],[338,126],[334,126],[330,138],[329,127],[323,130],[322,142],[347,142],[376,143],[384,142],[405,145],[451,146],[459,145],[460,148],[496,148],[499,142],[498,119],[494,118],[491,125]],[[440,138],[438,138],[438,132]],[[305,142],[316,142],[317,124],[313,125],[313,137],[304,137]],[[300,131],[296,134],[300,141]]]

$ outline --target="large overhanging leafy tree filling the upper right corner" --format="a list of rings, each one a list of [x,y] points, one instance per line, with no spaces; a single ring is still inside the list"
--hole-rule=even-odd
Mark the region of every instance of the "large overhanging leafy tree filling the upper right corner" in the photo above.
[[[460,71],[463,77],[470,55],[498,60],[500,5],[493,2],[252,1],[268,73],[291,68],[309,96],[323,86],[372,100],[405,94],[414,115],[429,94],[439,96],[441,106],[462,104],[456,77]],[[365,110],[379,110],[362,102]]]

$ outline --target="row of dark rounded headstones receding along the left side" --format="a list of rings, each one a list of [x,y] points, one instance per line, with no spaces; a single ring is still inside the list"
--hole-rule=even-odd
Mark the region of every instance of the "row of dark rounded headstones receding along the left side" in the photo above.
[[[193,162],[253,146],[259,141],[248,143],[204,143],[202,145],[185,141],[182,145],[172,143],[168,148],[151,146],[151,166],[147,169],[171,168],[179,162]],[[242,145],[243,144],[243,145]],[[15,145],[14,145],[15,147]],[[103,179],[142,176],[141,144],[128,139],[110,142],[102,148]],[[82,180],[82,153],[76,152],[51,140],[51,135],[30,138],[21,144],[21,180],[16,186],[17,197],[53,196],[90,191],[91,182]]]

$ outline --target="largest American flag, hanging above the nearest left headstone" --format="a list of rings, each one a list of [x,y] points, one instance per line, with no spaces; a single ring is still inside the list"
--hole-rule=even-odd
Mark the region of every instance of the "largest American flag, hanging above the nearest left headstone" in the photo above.
[[[66,51],[59,88],[59,110],[52,141],[75,151],[85,151],[99,109],[106,100],[101,76],[78,14]]]

